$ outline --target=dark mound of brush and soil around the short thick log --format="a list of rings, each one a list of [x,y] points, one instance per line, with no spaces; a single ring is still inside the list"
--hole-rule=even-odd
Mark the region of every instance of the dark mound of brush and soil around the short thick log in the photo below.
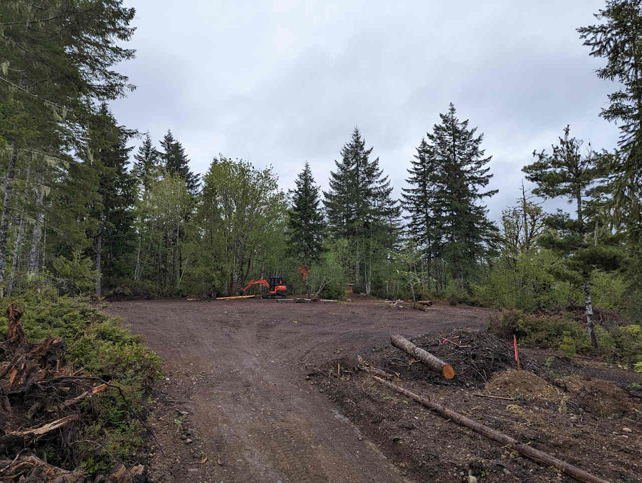
[[[453,366],[455,378],[444,380],[441,375],[394,347],[377,351],[368,362],[387,372],[397,373],[402,379],[466,387],[486,384],[496,372],[517,369],[512,345],[486,330],[453,329],[420,335],[410,341]],[[537,364],[527,357],[521,358],[521,366],[537,369]]]

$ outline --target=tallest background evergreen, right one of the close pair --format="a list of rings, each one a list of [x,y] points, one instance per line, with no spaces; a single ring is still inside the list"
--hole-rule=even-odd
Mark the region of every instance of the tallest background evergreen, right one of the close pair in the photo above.
[[[498,190],[480,192],[492,178],[487,167],[492,157],[484,157],[481,148],[483,134],[476,136],[477,128],[457,119],[453,103],[440,117],[442,123],[427,134],[426,150],[434,180],[433,240],[435,251],[453,264],[455,277],[464,285],[465,267],[494,253],[497,228],[480,202]]]

